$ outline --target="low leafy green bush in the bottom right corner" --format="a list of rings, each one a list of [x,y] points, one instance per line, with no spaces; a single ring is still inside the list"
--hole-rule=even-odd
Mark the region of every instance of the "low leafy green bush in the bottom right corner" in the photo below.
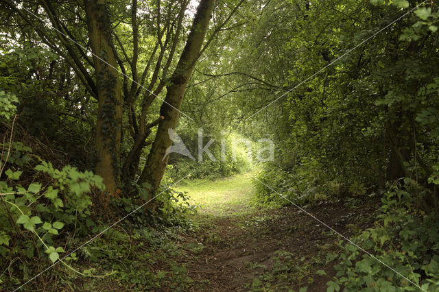
[[[355,237],[385,265],[418,284],[424,291],[439,289],[439,217],[435,212],[419,210],[418,203],[431,195],[416,182],[394,185],[381,201],[382,213],[375,226]],[[329,291],[417,291],[407,279],[385,267],[375,258],[350,243],[342,243],[344,252],[330,254],[336,259],[336,276],[327,284]]]

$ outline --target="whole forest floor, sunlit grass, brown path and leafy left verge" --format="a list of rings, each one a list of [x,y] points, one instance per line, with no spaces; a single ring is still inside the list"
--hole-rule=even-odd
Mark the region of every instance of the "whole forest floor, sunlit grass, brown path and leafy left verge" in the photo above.
[[[246,173],[178,186],[191,204],[200,205],[187,227],[142,228],[132,235],[113,228],[84,247],[82,254],[93,256],[93,263],[76,265],[94,274],[115,273],[105,278],[70,273],[64,282],[52,282],[52,290],[326,291],[336,264],[327,256],[342,251],[340,236],[294,206],[258,208],[253,183]],[[361,197],[305,209],[351,238],[372,226],[379,202]]]

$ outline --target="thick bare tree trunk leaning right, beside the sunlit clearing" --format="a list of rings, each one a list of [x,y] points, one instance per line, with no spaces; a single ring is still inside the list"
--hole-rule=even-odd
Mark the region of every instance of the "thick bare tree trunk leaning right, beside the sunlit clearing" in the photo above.
[[[185,95],[185,90],[189,78],[191,77],[193,66],[198,59],[204,37],[206,36],[213,12],[215,0],[201,0],[198,5],[197,13],[191,27],[191,33],[187,39],[185,49],[180,56],[176,70],[171,77],[171,84],[167,86],[165,102],[160,110],[161,121],[158,123],[158,129],[152,149],[148,155],[145,168],[139,178],[139,183],[146,183],[150,191],[150,198],[156,192],[165,173],[167,160],[165,157],[167,147],[171,146],[168,130],[175,129],[180,106]]]

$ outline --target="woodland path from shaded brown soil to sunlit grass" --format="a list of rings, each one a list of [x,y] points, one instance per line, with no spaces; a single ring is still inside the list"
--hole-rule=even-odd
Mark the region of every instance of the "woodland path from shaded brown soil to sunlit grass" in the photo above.
[[[200,228],[180,234],[178,243],[185,250],[178,262],[193,279],[190,291],[326,291],[335,273],[325,258],[339,250],[337,236],[295,207],[251,206],[249,174],[193,182],[179,191],[202,206],[194,218]],[[369,215],[368,208],[358,212],[333,203],[309,211],[346,236]],[[320,269],[329,276],[317,275]]]

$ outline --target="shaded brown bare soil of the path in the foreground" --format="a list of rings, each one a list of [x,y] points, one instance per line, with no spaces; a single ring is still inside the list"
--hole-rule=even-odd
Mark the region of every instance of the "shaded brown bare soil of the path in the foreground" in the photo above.
[[[374,221],[377,203],[326,202],[307,212],[350,238]],[[180,234],[178,243],[185,250],[179,263],[194,281],[191,291],[326,291],[335,276],[334,263],[325,258],[340,251],[335,243],[341,237],[294,206],[197,220],[202,228]],[[320,269],[327,275],[316,274]]]

